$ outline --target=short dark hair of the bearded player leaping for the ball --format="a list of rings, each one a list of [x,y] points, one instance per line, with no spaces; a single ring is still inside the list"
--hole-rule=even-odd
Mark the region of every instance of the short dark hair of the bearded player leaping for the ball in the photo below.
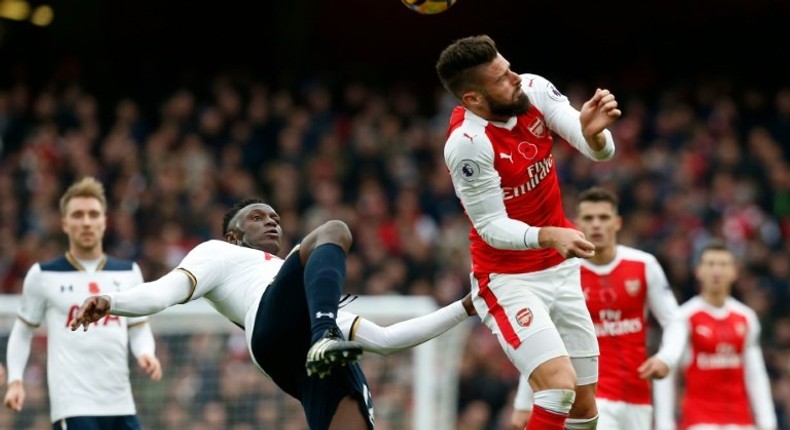
[[[494,40],[486,35],[458,39],[444,48],[436,62],[436,73],[447,91],[461,98],[464,91],[474,86],[475,67],[496,59]]]

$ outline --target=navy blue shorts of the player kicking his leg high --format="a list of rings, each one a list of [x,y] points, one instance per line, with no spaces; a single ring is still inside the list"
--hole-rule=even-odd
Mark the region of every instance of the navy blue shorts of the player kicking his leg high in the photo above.
[[[338,366],[325,377],[307,376],[310,317],[299,253],[289,255],[261,298],[252,332],[252,355],[283,391],[302,403],[311,430],[329,428],[340,401],[359,403],[373,430],[373,401],[359,363]]]

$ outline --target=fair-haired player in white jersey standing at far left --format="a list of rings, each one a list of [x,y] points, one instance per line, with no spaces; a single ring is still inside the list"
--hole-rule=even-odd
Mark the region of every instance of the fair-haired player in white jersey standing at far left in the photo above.
[[[90,333],[69,327],[86,297],[123,291],[143,281],[136,263],[108,256],[104,187],[94,178],[74,183],[60,199],[68,251],[34,264],[25,276],[22,303],[8,338],[5,405],[21,411],[23,374],[35,328],[47,329],[47,380],[53,429],[139,429],[129,382],[129,352],[149,377],[162,369],[147,318],[107,316]]]

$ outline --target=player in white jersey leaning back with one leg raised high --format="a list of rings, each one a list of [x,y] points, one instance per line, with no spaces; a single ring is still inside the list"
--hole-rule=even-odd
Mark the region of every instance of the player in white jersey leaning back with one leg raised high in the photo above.
[[[351,246],[345,223],[322,224],[284,260],[277,256],[280,217],[271,206],[242,201],[223,224],[225,241],[196,246],[162,278],[86,300],[72,329],[87,329],[108,314],[150,315],[205,297],[245,330],[254,363],[302,403],[312,430],[371,430],[370,390],[356,362],[361,349],[386,354],[409,348],[474,313],[467,297],[429,315],[379,327],[338,309]],[[320,303],[313,303],[316,297]]]

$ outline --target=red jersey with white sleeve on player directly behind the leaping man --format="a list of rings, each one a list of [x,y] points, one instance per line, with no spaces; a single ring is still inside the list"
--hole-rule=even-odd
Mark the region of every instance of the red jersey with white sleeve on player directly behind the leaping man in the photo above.
[[[596,397],[651,404],[650,383],[637,372],[647,358],[647,310],[661,327],[675,321],[678,312],[664,270],[653,255],[618,245],[607,264],[581,261],[581,284],[601,350]],[[662,353],[659,358],[670,365],[679,358]]]

